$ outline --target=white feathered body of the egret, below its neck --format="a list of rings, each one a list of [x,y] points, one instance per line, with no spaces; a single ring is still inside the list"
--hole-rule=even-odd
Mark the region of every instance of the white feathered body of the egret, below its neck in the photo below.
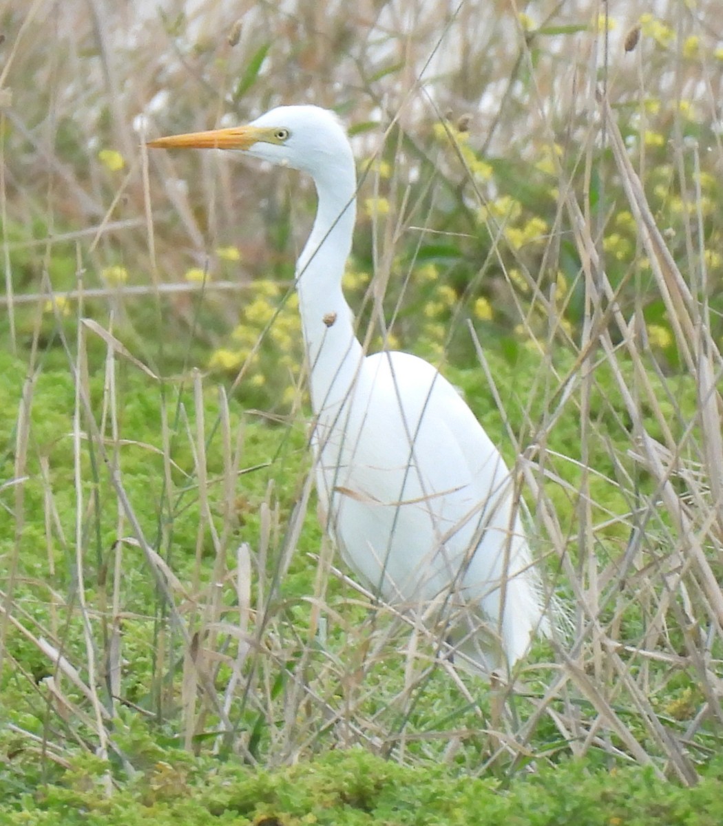
[[[365,358],[352,392],[316,433],[317,487],[346,560],[388,601],[472,606],[514,662],[540,606],[502,456],[421,358]]]

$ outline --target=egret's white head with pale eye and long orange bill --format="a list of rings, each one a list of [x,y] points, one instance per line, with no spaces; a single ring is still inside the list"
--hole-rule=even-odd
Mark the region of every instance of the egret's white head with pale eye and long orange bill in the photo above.
[[[150,140],[159,149],[242,150],[272,164],[315,178],[340,164],[353,164],[349,140],[334,112],[316,106],[282,106],[247,126],[232,126]]]

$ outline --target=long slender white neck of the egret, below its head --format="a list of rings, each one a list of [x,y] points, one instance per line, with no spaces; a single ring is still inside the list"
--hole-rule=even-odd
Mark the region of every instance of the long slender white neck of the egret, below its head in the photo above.
[[[297,262],[297,292],[311,376],[312,409],[332,413],[344,401],[362,358],[341,279],[356,216],[354,162],[314,179],[316,220]]]

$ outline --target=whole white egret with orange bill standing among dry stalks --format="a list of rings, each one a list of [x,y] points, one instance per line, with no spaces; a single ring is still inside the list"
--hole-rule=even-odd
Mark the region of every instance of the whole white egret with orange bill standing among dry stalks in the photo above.
[[[488,671],[549,620],[501,454],[459,393],[411,354],[365,355],[341,288],[356,210],[350,142],[333,112],[278,107],[248,126],[152,140],[243,150],[316,184],[296,288],[309,364],[316,490],[346,562],[394,605],[439,605],[445,636]]]

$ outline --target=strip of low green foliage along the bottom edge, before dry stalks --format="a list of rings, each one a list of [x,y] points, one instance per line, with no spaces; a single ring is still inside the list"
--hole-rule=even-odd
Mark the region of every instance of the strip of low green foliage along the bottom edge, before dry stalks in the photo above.
[[[178,759],[180,758],[180,759]],[[75,824],[284,824],[284,826],[717,826],[723,817],[720,762],[692,789],[650,769],[591,774],[568,762],[523,776],[512,790],[496,781],[454,776],[443,766],[407,767],[368,752],[330,752],[278,771],[177,755],[107,795],[103,767],[76,761],[62,785],[26,795],[4,822]],[[55,820],[53,819],[55,818]]]

